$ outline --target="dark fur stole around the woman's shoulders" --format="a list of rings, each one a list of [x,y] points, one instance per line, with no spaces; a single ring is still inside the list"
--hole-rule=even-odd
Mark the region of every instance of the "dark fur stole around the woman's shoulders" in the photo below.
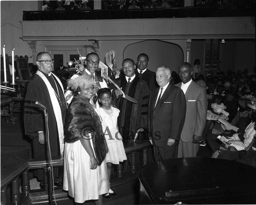
[[[69,105],[66,116],[65,141],[73,143],[79,140],[85,130],[94,131],[93,148],[98,165],[100,165],[108,152],[100,118],[90,102],[76,94]]]

